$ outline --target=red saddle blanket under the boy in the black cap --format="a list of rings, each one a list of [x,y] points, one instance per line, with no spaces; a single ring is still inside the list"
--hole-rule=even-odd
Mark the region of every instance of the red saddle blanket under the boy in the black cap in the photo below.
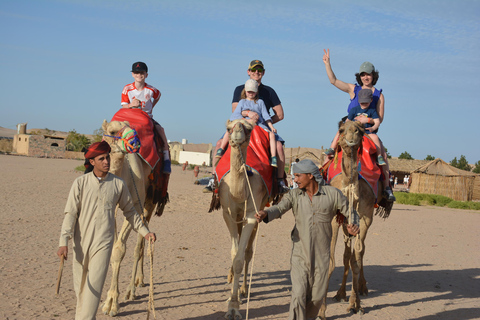
[[[128,121],[130,128],[134,129],[140,139],[140,157],[148,163],[153,170],[160,157],[154,139],[154,125],[150,116],[140,109],[122,108],[115,113],[112,121]]]

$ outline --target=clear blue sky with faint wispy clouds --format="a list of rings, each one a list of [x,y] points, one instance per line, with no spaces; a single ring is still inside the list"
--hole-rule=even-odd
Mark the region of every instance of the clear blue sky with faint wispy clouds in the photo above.
[[[0,1],[0,126],[92,134],[120,108],[135,61],[171,141],[215,143],[253,59],[285,112],[289,148],[328,147],[370,61],[390,155],[480,160],[480,1]]]

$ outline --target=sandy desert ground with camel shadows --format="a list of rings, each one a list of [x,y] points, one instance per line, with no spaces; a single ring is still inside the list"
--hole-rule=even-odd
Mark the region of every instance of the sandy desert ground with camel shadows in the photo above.
[[[71,260],[55,296],[56,256],[63,208],[76,160],[0,155],[0,318],[73,319],[75,294]],[[200,176],[206,175],[201,172]],[[230,286],[226,283],[230,240],[219,211],[208,213],[211,194],[194,185],[192,171],[173,169],[171,202],[153,218],[157,234],[154,292],[157,319],[223,319]],[[120,218],[118,225],[120,225]],[[287,319],[290,301],[291,214],[261,224],[255,256],[250,319]],[[480,213],[395,205],[387,220],[377,218],[367,238],[366,314],[346,313],[333,303],[341,281],[341,256],[328,293],[329,319],[478,319],[480,317]],[[134,237],[120,274],[126,288]],[[337,244],[337,253],[342,249]],[[146,267],[149,278],[149,266]],[[110,275],[104,288],[105,298]],[[348,287],[350,289],[350,286]],[[138,299],[121,292],[118,319],[146,319],[148,286]],[[246,301],[241,306],[245,317]],[[97,313],[97,319],[109,317]],[[153,319],[153,317],[150,317]]]

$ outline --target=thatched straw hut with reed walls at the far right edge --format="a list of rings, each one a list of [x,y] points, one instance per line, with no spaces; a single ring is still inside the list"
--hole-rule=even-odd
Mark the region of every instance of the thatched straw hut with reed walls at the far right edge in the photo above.
[[[452,167],[435,159],[414,170],[410,176],[410,192],[439,194],[453,200],[473,200],[475,173]]]

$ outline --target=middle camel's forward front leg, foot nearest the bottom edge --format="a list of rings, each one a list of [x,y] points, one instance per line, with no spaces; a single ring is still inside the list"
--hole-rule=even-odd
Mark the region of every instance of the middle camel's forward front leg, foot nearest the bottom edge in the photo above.
[[[242,235],[240,237],[240,241],[238,244],[238,251],[235,259],[233,259],[233,285],[231,296],[228,301],[228,308],[227,313],[225,314],[225,318],[228,320],[239,320],[242,319],[240,314],[240,299],[239,299],[239,282],[240,282],[240,275],[243,270],[243,265],[245,262],[245,251],[250,241],[250,236],[252,235],[253,230],[257,226],[257,222],[248,222],[244,225],[242,230]]]

